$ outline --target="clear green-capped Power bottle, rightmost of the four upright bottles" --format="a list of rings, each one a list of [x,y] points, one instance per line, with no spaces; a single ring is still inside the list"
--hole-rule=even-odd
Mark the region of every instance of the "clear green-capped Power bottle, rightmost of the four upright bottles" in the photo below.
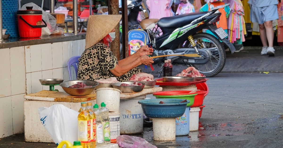
[[[102,127],[103,127],[103,139],[105,144],[110,143],[110,123],[109,123],[109,109],[106,108],[106,104],[102,102],[100,104],[101,108],[101,120],[102,120]]]

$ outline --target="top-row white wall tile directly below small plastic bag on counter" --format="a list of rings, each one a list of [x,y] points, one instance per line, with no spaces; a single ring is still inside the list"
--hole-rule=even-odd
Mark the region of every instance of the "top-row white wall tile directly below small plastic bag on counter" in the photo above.
[[[52,65],[53,69],[63,67],[62,42],[52,43]]]

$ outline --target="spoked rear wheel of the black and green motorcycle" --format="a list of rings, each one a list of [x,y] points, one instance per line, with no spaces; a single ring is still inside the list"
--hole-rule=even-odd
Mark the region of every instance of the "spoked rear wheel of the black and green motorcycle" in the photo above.
[[[204,49],[209,54],[209,61],[205,64],[194,64],[201,74],[207,77],[213,77],[217,75],[224,68],[226,62],[226,53],[223,45],[220,41],[211,34],[198,33],[192,35],[194,43],[198,49]],[[187,40],[184,48],[193,48],[191,43]]]

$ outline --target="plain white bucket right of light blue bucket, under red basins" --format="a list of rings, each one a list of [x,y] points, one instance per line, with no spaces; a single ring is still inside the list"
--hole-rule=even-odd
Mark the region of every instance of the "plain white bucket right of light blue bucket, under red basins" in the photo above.
[[[200,107],[191,107],[190,109],[190,132],[198,131],[198,116]]]

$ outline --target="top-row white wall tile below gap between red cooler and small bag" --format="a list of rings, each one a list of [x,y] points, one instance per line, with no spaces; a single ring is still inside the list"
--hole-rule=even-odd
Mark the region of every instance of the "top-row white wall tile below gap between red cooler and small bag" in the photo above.
[[[42,70],[52,69],[52,45],[41,44],[41,61],[42,61]]]

